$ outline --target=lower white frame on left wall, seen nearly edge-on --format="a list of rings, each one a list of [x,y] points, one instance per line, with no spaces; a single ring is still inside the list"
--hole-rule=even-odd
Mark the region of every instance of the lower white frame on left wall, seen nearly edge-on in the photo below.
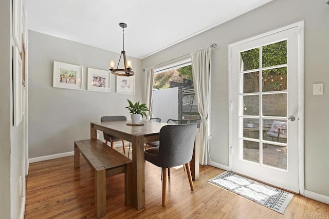
[[[23,118],[23,84],[22,84],[23,63],[20,51],[13,46],[13,89],[14,89],[14,125],[18,126]]]

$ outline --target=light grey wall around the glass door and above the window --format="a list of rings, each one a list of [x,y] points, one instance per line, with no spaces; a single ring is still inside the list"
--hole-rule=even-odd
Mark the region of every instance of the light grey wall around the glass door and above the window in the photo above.
[[[329,196],[327,132],[329,92],[313,95],[313,84],[329,85],[329,6],[326,1],[275,0],[220,26],[143,59],[143,68],[216,43],[212,50],[210,156],[228,165],[228,45],[305,21],[305,189]],[[176,60],[177,61],[177,60]]]

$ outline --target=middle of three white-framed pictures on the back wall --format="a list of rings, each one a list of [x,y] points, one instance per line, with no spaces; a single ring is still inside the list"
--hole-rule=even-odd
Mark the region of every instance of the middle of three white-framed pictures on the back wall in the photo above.
[[[87,90],[111,92],[111,80],[108,71],[88,68]]]

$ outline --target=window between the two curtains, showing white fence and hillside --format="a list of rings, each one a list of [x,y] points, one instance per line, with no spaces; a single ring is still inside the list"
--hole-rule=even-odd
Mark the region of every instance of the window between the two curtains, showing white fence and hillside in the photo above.
[[[191,59],[155,69],[152,104],[152,116],[161,122],[199,123]]]

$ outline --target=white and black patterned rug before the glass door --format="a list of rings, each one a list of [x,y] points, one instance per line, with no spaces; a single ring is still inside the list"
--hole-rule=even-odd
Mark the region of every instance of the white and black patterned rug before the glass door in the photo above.
[[[294,196],[291,193],[255,182],[231,172],[224,172],[212,178],[209,182],[281,214],[283,214],[291,198]]]

